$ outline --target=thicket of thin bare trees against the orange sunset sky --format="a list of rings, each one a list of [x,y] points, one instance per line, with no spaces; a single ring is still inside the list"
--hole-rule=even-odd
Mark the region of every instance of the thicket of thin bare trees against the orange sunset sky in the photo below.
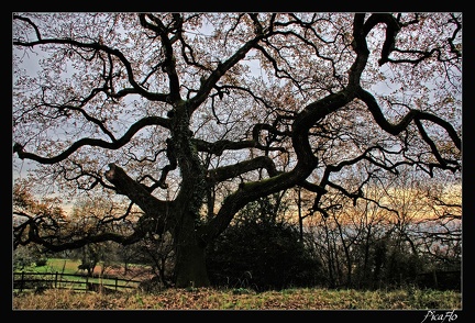
[[[334,197],[328,218],[309,219],[307,241],[325,264],[329,286],[405,287],[434,270],[451,271],[446,287],[460,286],[460,189],[419,176],[410,168],[378,176],[355,205]]]

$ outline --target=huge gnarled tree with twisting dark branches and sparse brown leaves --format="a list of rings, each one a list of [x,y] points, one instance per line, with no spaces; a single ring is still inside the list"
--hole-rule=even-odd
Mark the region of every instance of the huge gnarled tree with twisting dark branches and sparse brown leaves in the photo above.
[[[299,186],[327,215],[377,171],[461,170],[460,13],[12,18],[14,164],[43,194],[129,203],[77,233],[26,221],[20,243],[169,235],[176,286],[208,286],[206,247],[250,202]]]

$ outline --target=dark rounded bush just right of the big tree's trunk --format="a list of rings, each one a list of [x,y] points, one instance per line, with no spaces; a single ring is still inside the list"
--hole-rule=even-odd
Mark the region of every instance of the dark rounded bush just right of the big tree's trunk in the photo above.
[[[251,221],[230,226],[209,247],[207,266],[216,287],[256,290],[314,286],[321,268],[292,227]]]

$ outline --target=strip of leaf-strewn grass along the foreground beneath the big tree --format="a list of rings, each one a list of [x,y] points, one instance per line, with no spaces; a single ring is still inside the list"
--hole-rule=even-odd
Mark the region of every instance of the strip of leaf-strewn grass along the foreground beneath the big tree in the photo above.
[[[76,293],[46,290],[13,297],[18,310],[460,310],[454,291],[356,291],[287,289],[256,293],[246,289],[168,289],[157,293]]]

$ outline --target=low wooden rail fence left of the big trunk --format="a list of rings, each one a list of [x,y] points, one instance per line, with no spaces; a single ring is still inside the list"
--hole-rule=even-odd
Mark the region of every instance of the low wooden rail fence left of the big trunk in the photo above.
[[[69,289],[76,291],[117,292],[137,288],[141,280],[122,279],[114,276],[86,276],[63,272],[13,272],[14,291],[41,292],[45,289]]]

